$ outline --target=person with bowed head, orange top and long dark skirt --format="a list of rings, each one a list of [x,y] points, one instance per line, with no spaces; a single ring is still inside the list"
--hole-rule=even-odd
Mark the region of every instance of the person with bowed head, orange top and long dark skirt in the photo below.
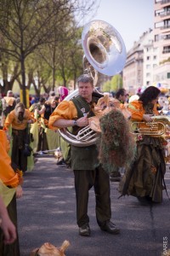
[[[8,132],[8,128],[12,125],[12,154],[11,160],[18,168],[26,172],[27,170],[27,156],[25,155],[24,148],[26,145],[26,127],[27,124],[33,124],[36,121],[31,112],[25,108],[23,103],[16,104],[13,111],[8,113],[5,119],[3,129]]]

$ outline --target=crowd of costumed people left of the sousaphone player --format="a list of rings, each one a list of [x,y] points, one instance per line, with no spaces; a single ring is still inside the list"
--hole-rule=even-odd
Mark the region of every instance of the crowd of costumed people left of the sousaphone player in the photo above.
[[[47,99],[32,100],[29,109],[12,90],[0,100],[1,255],[20,256],[16,199],[22,196],[24,173],[34,167],[33,153],[59,147],[57,133],[48,129],[49,116],[58,104],[59,95],[54,92]]]

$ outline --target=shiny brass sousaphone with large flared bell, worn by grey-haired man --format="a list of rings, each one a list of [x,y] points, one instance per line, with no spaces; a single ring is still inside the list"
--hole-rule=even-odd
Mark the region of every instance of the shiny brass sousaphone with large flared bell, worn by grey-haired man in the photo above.
[[[116,28],[103,20],[93,20],[82,31],[82,48],[84,50],[83,67],[97,84],[98,72],[107,76],[121,73],[126,63],[126,47]],[[74,90],[66,101],[78,95]],[[98,135],[89,126],[84,128],[83,136],[75,136],[67,128],[59,129],[59,134],[71,145],[86,147],[96,142]]]

